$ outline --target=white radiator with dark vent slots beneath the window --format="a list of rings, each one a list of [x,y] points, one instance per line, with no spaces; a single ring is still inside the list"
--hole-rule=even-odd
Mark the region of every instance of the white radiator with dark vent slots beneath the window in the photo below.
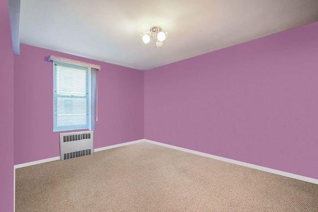
[[[93,131],[60,133],[61,160],[94,153]]]

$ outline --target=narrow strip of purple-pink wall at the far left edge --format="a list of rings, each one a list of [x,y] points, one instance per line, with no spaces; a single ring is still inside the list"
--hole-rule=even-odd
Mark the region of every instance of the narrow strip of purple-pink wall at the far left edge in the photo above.
[[[13,211],[13,50],[7,0],[0,0],[0,212]]]

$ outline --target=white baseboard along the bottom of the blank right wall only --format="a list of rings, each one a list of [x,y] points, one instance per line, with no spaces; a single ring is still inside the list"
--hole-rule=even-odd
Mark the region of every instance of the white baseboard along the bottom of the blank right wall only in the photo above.
[[[261,171],[265,171],[265,172],[269,172],[269,173],[273,173],[273,174],[277,174],[277,175],[282,175],[282,176],[285,176],[285,177],[294,178],[294,179],[297,179],[297,180],[302,180],[302,181],[318,184],[318,179],[309,178],[309,177],[305,177],[305,176],[302,176],[302,175],[296,175],[296,174],[292,174],[292,173],[289,173],[289,172],[283,172],[283,171],[279,171],[279,170],[276,170],[276,169],[271,169],[271,168],[267,168],[267,167],[263,167],[263,166],[250,164],[250,163],[245,163],[245,162],[241,162],[241,161],[238,161],[238,160],[232,160],[232,159],[229,159],[229,158],[224,158],[224,157],[211,155],[211,154],[208,154],[208,153],[203,153],[203,152],[199,152],[199,151],[195,151],[195,150],[191,150],[191,149],[186,149],[186,148],[182,148],[182,147],[178,147],[178,146],[173,146],[173,145],[169,145],[169,144],[165,144],[165,143],[160,143],[160,142],[157,142],[157,141],[152,141],[152,140],[148,140],[148,139],[144,139],[144,140],[145,140],[145,142],[156,144],[156,145],[160,145],[160,146],[164,146],[164,147],[168,147],[168,148],[171,148],[171,149],[176,149],[176,150],[180,150],[180,151],[183,151],[183,152],[188,152],[188,153],[192,153],[192,154],[196,154],[196,155],[200,155],[200,156],[204,156],[204,157],[208,157],[208,158],[212,158],[212,159],[216,159],[216,160],[221,160],[221,161],[228,162],[228,163],[237,164],[237,165],[240,165],[240,166],[245,166],[245,167],[252,168],[252,169],[257,169],[257,170],[261,170]]]

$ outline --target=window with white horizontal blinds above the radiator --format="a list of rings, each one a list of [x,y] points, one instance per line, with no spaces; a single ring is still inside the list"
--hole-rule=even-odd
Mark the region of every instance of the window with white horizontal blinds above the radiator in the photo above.
[[[94,128],[96,70],[53,62],[53,131]]]

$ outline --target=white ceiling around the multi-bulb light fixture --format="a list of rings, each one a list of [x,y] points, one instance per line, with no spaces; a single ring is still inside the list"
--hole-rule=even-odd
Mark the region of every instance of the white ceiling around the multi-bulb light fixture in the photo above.
[[[318,0],[21,0],[20,42],[148,70],[314,21]]]

